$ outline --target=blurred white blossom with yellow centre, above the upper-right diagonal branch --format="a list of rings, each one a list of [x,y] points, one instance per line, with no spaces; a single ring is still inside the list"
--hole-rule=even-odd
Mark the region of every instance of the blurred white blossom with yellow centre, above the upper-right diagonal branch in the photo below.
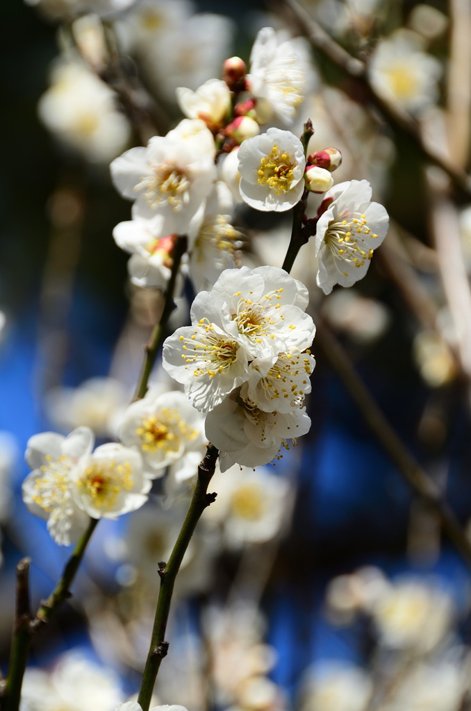
[[[416,33],[406,30],[381,40],[369,63],[376,91],[415,114],[437,101],[441,74],[440,62],[423,52]]]

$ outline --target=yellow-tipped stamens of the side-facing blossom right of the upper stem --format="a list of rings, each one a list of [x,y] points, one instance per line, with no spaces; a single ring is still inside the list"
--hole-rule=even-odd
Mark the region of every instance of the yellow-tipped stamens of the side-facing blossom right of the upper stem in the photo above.
[[[332,252],[334,261],[348,262],[353,267],[363,267],[365,260],[371,260],[373,250],[367,245],[364,235],[376,239],[378,235],[368,227],[366,215],[348,213],[332,220],[327,228],[324,240]],[[337,267],[342,271],[342,267]],[[346,272],[343,272],[348,276]]]

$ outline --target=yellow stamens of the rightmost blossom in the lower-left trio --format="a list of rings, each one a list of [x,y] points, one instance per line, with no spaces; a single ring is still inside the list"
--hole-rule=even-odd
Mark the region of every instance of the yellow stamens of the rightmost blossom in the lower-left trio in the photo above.
[[[143,451],[158,451],[164,449],[168,451],[179,451],[181,439],[190,442],[198,435],[196,429],[181,419],[179,411],[166,407],[159,412],[158,417],[148,417],[142,420],[141,427],[138,427],[136,434],[142,439]]]

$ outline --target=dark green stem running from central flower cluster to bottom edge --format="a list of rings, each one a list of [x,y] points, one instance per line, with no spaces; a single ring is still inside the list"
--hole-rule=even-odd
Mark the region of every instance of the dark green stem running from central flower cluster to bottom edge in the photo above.
[[[154,684],[159,671],[160,663],[166,656],[169,643],[164,641],[166,624],[169,618],[171,596],[174,592],[176,574],[179,572],[181,561],[186,553],[191,536],[194,533],[196,524],[201,518],[206,506],[214,501],[215,494],[208,494],[208,485],[214,474],[218,450],[212,444],[208,444],[208,449],[203,461],[198,467],[198,479],[191,498],[188,513],[181,527],[179,537],[171,552],[170,560],[167,564],[159,563],[160,590],[157,609],[155,611],[154,628],[152,629],[152,640],[149,654],[142,677],[142,686],[137,702],[142,707],[142,711],[149,711],[149,704],[154,691]]]

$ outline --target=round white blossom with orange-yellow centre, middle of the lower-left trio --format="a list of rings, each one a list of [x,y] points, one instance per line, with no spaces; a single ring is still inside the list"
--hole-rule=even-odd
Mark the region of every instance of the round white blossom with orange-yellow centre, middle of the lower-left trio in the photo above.
[[[140,508],[152,486],[139,451],[115,442],[83,456],[70,478],[74,500],[91,518],[117,518]]]

